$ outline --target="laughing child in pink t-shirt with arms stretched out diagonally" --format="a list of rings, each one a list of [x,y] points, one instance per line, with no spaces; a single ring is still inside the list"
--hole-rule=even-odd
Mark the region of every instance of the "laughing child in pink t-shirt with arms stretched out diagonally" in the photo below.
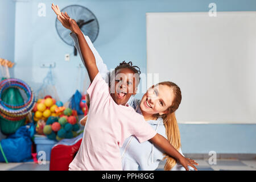
[[[139,81],[133,76],[135,71],[130,68],[118,69],[115,72],[114,80],[112,80],[112,82],[114,81],[112,84],[114,93],[109,93],[109,86],[100,76],[94,55],[75,20],[69,18],[67,13],[65,15],[58,14],[58,19],[69,21],[71,31],[77,35],[84,65],[91,81],[87,90],[90,96],[90,110],[84,137],[79,152],[69,165],[69,169],[122,170],[119,147],[130,135],[135,135],[139,142],[150,139],[168,155],[176,158],[186,169],[188,166],[196,169],[192,160],[180,155],[168,140],[157,134],[144,121],[142,115],[126,105],[130,96],[136,93],[138,86]]]

